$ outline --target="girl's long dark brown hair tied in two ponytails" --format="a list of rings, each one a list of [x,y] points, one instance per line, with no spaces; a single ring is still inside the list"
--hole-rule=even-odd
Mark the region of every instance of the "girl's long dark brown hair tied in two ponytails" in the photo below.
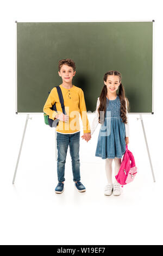
[[[104,81],[105,82],[106,82],[109,75],[118,76],[120,81],[122,81],[122,75],[121,75],[120,72],[110,70],[110,71],[106,72],[105,75],[104,75]],[[101,95],[99,96],[99,101],[100,101],[100,105],[99,105],[99,108],[98,108],[99,123],[100,123],[100,112],[101,111],[104,111],[104,113],[106,112],[106,95],[107,95],[107,93],[108,93],[108,90],[107,90],[107,87],[104,84]],[[120,101],[121,101],[121,118],[122,118],[123,123],[127,124],[126,113],[127,113],[127,109],[129,111],[129,101],[128,101],[127,97],[125,96],[124,87],[123,87],[122,83],[120,83],[118,95],[119,95]],[[126,109],[126,100],[125,99],[127,100],[127,109]]]

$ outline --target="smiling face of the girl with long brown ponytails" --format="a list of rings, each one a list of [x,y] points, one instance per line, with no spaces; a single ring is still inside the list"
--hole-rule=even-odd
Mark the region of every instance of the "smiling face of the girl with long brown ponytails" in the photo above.
[[[108,75],[106,82],[104,81],[104,84],[107,87],[108,92],[115,93],[121,84],[120,77]]]

